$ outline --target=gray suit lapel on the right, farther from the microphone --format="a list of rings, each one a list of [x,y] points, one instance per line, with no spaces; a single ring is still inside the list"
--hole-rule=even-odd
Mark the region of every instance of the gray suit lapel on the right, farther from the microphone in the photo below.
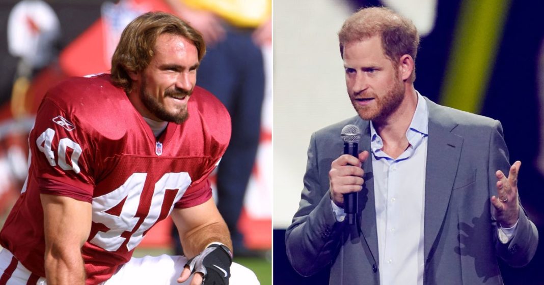
[[[463,144],[463,138],[451,132],[457,124],[441,112],[441,106],[426,100],[429,107],[429,137],[423,234],[425,261],[430,257],[429,253],[440,235]]]

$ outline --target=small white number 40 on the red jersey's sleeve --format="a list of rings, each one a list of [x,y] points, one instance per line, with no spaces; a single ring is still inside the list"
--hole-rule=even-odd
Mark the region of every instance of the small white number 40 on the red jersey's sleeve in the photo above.
[[[57,166],[57,163],[55,162],[55,154],[53,153],[52,142],[53,137],[55,136],[55,131],[53,129],[47,129],[44,132],[41,133],[41,135],[38,137],[38,140],[36,140],[36,145],[38,145],[38,149],[45,154],[47,157],[47,161],[51,166]],[[66,161],[66,150],[68,148],[72,149],[72,155],[70,156],[70,162],[68,163]],[[62,138],[59,141],[59,148],[57,150],[57,155],[59,157],[58,164],[60,168],[64,170],[73,170],[76,174],[79,173],[80,169],[77,164],[77,161],[79,160],[79,156],[81,156],[81,147],[76,142],[70,140],[70,138]]]

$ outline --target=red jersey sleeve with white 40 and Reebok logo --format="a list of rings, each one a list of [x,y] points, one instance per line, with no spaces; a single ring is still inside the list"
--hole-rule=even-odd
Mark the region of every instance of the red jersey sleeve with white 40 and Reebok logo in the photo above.
[[[29,137],[31,163],[40,193],[91,202],[95,185],[90,171],[92,142],[78,124],[77,113],[70,109],[47,97],[41,103]]]

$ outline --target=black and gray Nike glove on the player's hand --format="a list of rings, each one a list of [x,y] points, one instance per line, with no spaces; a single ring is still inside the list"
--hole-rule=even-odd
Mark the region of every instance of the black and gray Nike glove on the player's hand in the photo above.
[[[204,275],[203,285],[228,285],[231,264],[231,251],[225,245],[211,244],[199,255],[189,259],[186,265],[191,274],[200,272]]]

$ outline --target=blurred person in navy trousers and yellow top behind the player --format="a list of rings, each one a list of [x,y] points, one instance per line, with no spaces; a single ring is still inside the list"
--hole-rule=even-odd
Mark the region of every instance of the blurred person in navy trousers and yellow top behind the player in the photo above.
[[[217,173],[218,208],[231,232],[234,255],[254,255],[244,246],[237,223],[259,143],[264,97],[261,47],[271,45],[271,3],[269,0],[166,1],[180,17],[201,31],[207,42],[197,85],[217,96],[232,118],[231,141]]]

